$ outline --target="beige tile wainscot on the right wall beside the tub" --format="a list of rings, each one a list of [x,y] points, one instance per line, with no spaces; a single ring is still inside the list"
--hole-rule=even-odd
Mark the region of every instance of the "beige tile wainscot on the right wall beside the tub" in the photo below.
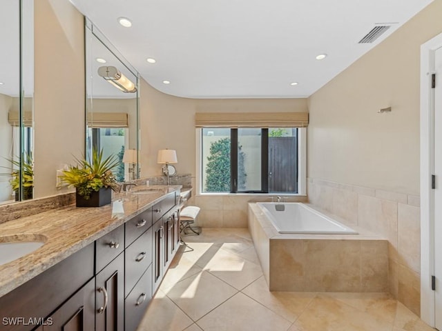
[[[419,315],[419,196],[311,178],[307,181],[307,192],[310,203],[389,241],[390,292]]]

